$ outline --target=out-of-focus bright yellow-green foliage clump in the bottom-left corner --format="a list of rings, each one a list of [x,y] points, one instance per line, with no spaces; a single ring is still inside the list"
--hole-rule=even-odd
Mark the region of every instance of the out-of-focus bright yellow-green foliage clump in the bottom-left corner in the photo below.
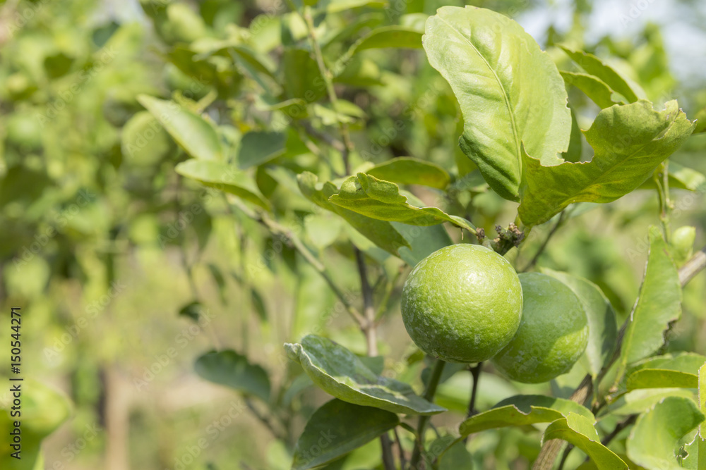
[[[7,383],[7,382],[6,382]],[[12,470],[39,470],[44,469],[42,465],[41,443],[42,439],[54,432],[61,423],[68,419],[71,414],[71,404],[61,393],[54,391],[43,383],[25,379],[24,381],[9,382],[8,389],[14,385],[20,386],[22,400],[20,416],[20,459],[11,457],[11,453],[16,452],[16,448],[11,445],[15,431],[14,423],[18,421],[18,416],[11,416],[11,409],[6,405],[6,409],[0,409],[0,444],[3,451],[0,453],[0,468]],[[11,394],[8,394],[11,396]],[[100,428],[90,426],[85,438],[95,438]]]

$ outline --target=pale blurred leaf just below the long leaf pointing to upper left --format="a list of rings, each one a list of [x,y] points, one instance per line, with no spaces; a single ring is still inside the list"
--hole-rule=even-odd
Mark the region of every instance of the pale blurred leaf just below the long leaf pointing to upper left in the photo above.
[[[228,163],[191,159],[182,161],[174,170],[202,185],[234,194],[263,209],[270,209],[270,202],[258,190],[253,179]]]

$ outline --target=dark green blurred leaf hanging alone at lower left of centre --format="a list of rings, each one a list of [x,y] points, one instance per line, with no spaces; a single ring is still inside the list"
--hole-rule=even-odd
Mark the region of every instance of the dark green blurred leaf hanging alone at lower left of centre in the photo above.
[[[250,364],[247,357],[234,350],[207,352],[196,359],[194,368],[207,381],[254,395],[264,402],[270,400],[270,378],[265,369]]]

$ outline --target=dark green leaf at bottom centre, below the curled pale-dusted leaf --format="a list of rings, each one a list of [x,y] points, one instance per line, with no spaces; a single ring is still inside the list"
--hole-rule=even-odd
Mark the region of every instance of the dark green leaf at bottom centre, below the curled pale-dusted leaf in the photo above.
[[[394,413],[331,400],[313,412],[294,447],[293,470],[313,469],[357,449],[400,423]]]

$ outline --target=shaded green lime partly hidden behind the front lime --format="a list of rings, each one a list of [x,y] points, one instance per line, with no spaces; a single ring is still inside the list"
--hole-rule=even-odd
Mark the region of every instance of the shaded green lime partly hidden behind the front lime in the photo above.
[[[520,283],[525,299],[520,328],[492,362],[513,381],[550,381],[568,372],[586,349],[586,314],[578,297],[556,278],[522,273]]]

